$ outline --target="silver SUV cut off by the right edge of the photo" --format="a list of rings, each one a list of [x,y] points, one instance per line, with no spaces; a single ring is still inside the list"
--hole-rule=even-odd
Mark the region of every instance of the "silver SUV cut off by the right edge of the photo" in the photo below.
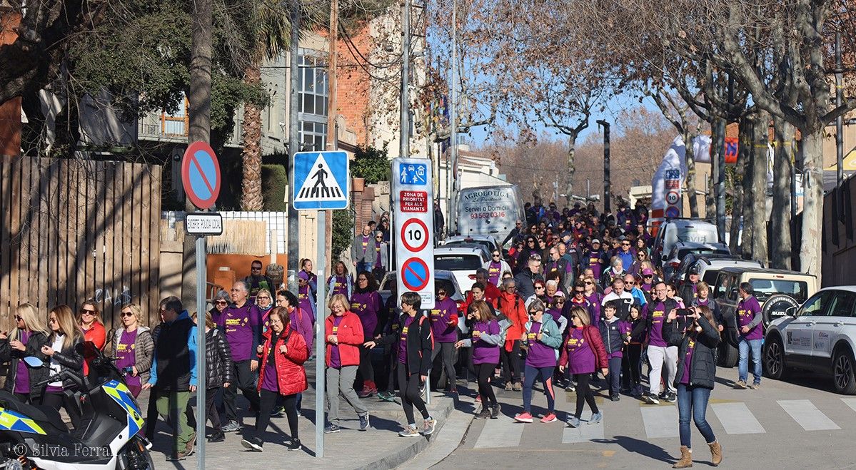
[[[792,369],[823,373],[835,391],[856,394],[856,285],[818,291],[773,320],[764,339],[764,370],[783,379]]]

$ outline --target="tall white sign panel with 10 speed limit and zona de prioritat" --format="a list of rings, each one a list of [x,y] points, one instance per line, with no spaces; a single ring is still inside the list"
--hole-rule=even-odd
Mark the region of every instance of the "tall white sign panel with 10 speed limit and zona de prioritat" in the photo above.
[[[395,210],[395,271],[398,295],[419,294],[422,308],[434,308],[434,197],[431,161],[392,161]],[[401,306],[401,297],[398,298]]]

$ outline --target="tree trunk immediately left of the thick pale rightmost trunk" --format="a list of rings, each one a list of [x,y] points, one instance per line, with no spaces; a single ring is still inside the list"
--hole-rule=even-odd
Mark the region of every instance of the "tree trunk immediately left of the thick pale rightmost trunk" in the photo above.
[[[791,268],[791,171],[794,126],[773,118],[776,151],[773,156],[773,207],[770,212],[770,267]]]

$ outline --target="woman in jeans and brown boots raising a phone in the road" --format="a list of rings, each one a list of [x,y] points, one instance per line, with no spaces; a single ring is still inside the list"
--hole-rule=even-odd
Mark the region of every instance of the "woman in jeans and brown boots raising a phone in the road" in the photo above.
[[[698,432],[710,447],[711,463],[716,467],[722,461],[722,446],[704,417],[710,391],[716,383],[716,346],[719,330],[713,313],[706,306],[681,308],[687,316],[686,328],[679,328],[675,319],[678,309],[669,311],[663,322],[663,338],[670,346],[678,347],[678,370],[675,388],[678,389],[678,432],[681,436],[681,460],[673,468],[693,467],[693,450],[690,447],[690,417]],[[683,322],[681,322],[683,323]]]

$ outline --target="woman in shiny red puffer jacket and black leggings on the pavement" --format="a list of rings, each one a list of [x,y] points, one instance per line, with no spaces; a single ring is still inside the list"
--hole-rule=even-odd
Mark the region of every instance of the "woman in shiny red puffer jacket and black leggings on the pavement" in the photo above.
[[[300,449],[297,436],[297,394],[308,387],[306,382],[306,361],[309,350],[306,341],[290,325],[288,310],[275,307],[268,316],[270,330],[265,332],[265,344],[259,344],[259,418],[252,438],[245,438],[241,445],[247,449],[262,451],[262,434],[270,423],[270,412],[276,406],[277,398],[282,396],[282,406],[288,416],[288,428],[291,432],[291,444],[288,450]]]

